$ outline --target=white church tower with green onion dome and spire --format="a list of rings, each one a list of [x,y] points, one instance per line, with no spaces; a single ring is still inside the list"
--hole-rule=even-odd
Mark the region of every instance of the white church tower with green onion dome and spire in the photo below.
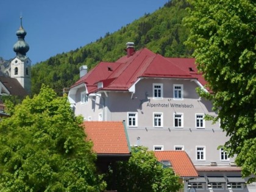
[[[22,26],[16,31],[18,41],[13,46],[13,51],[16,52],[16,57],[12,60],[10,65],[10,77],[15,78],[20,82],[21,86],[31,93],[31,60],[26,56],[27,51],[29,51],[29,44],[24,40],[27,32]]]

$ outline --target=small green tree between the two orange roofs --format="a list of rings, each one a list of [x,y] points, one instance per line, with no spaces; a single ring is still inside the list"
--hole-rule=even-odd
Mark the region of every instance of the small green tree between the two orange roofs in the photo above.
[[[108,177],[113,178],[110,171]],[[140,146],[132,148],[128,162],[119,162],[116,167],[116,189],[118,191],[170,192],[178,191],[182,184],[171,168],[163,168],[153,151]]]

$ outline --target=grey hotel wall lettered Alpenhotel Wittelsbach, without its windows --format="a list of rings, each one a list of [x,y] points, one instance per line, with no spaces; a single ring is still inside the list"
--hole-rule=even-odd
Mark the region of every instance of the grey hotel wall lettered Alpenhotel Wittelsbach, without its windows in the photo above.
[[[163,98],[154,99],[153,84],[163,84]],[[173,97],[174,84],[183,85],[183,99],[176,100]],[[196,127],[196,114],[213,115],[212,104],[199,97],[196,93],[198,85],[191,80],[178,79],[141,79],[135,85],[135,92],[107,91],[90,94],[87,104],[80,104],[80,93],[85,88],[80,88],[76,93],[76,115],[83,115],[88,120],[98,121],[99,113],[104,114],[105,121],[126,121],[127,132],[131,145],[147,146],[154,150],[160,146],[164,151],[175,150],[175,146],[182,147],[190,156],[195,166],[211,166],[213,162],[217,166],[230,168],[234,158],[221,159],[219,145],[224,144],[229,138],[219,128],[219,123],[205,121],[203,128]],[[137,126],[129,126],[128,113],[137,114]],[[154,127],[154,113],[163,115],[161,127]],[[174,114],[183,114],[183,127],[174,127]],[[197,159],[197,147],[205,149],[204,160]],[[241,176],[241,172],[199,172],[200,176]],[[185,182],[187,183],[187,182]],[[188,183],[187,183],[188,184]],[[187,186],[186,184],[186,186]],[[227,189],[227,182],[222,183],[222,189],[211,190],[207,183],[203,183],[204,189],[197,191],[256,191],[255,183],[243,189]],[[187,191],[187,188],[184,189]]]

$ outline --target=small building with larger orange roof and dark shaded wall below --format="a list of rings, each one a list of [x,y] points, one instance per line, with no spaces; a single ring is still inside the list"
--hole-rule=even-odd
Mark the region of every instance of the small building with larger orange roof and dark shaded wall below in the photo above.
[[[84,121],[84,130],[87,140],[93,141],[99,171],[107,171],[110,163],[129,160],[129,138],[122,121]]]

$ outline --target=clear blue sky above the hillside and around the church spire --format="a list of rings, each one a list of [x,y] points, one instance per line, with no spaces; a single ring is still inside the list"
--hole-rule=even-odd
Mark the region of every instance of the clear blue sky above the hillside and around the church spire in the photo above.
[[[15,57],[13,44],[20,15],[32,63],[104,37],[163,7],[168,0],[2,0],[0,1],[0,57]],[[124,42],[125,46],[126,42]]]

